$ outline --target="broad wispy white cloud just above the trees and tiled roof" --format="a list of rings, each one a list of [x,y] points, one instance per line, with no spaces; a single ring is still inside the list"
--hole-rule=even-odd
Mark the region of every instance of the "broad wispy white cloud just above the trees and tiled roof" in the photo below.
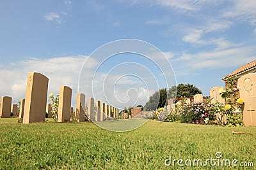
[[[247,62],[255,60],[253,46],[230,48],[228,50],[214,50],[199,53],[184,53],[174,60],[174,67],[182,74],[192,74],[200,69],[217,69],[243,66]],[[176,72],[176,71],[175,71]]]

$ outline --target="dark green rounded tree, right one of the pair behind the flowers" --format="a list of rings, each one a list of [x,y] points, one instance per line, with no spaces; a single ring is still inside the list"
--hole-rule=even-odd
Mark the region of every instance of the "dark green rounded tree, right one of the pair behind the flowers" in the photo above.
[[[196,94],[202,94],[202,90],[191,84],[179,84],[177,86],[177,97],[193,97]]]

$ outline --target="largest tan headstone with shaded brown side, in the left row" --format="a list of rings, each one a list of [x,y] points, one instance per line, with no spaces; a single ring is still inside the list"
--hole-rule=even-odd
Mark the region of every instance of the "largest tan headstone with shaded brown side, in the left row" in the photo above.
[[[48,78],[40,73],[28,73],[23,124],[45,122]]]

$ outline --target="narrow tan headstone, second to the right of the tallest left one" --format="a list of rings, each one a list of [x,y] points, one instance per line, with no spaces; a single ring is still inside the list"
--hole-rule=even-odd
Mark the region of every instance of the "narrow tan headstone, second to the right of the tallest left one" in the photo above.
[[[77,111],[77,121],[84,122],[84,107],[85,107],[85,95],[82,93],[76,96],[76,111]],[[70,108],[70,106],[69,106]]]

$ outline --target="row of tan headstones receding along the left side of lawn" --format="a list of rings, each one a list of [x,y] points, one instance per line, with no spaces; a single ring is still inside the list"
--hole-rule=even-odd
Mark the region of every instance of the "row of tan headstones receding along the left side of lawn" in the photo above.
[[[47,90],[49,79],[40,73],[28,73],[26,98],[20,100],[20,118],[23,118],[23,124],[33,122],[45,122],[45,112],[51,117],[52,106],[47,104]],[[58,105],[58,122],[68,122],[71,117],[71,97],[72,89],[67,86],[60,87],[60,98]],[[10,117],[11,111],[17,112],[17,104],[12,104],[12,98],[8,96],[1,97],[0,117]],[[101,104],[96,101],[96,110],[94,110],[94,99],[88,99],[88,117],[94,121],[103,121],[107,117],[118,118],[119,110],[108,104]],[[10,107],[9,107],[10,106]],[[77,94],[76,118],[78,122],[84,122],[85,116],[85,95]],[[46,110],[45,110],[46,108]],[[101,109],[100,109],[101,108]]]

